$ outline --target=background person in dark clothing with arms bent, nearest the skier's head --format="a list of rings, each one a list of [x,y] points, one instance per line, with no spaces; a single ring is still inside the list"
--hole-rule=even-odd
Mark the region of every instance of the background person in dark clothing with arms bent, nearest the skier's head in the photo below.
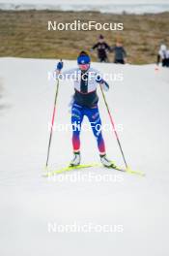
[[[99,35],[99,42],[91,48],[91,51],[94,49],[98,50],[99,62],[108,62],[107,50],[110,51],[110,47],[104,42],[104,37],[102,35]]]

